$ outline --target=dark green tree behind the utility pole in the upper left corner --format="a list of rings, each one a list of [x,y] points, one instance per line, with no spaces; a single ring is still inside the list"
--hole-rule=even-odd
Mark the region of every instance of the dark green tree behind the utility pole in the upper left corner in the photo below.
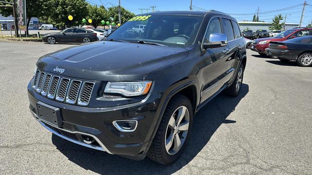
[[[2,1],[12,2],[12,0]],[[0,5],[4,5],[4,3],[0,2]],[[26,0],[27,29],[31,18],[42,17],[48,14],[47,8],[46,0]],[[12,7],[0,7],[0,14],[4,17],[13,16],[13,9]]]

